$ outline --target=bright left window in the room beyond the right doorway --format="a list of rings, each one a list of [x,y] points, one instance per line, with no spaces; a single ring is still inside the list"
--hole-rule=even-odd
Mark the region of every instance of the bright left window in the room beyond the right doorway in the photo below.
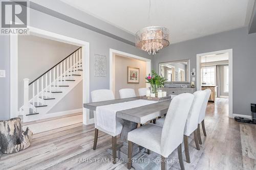
[[[215,66],[201,68],[201,82],[203,85],[215,86]]]

